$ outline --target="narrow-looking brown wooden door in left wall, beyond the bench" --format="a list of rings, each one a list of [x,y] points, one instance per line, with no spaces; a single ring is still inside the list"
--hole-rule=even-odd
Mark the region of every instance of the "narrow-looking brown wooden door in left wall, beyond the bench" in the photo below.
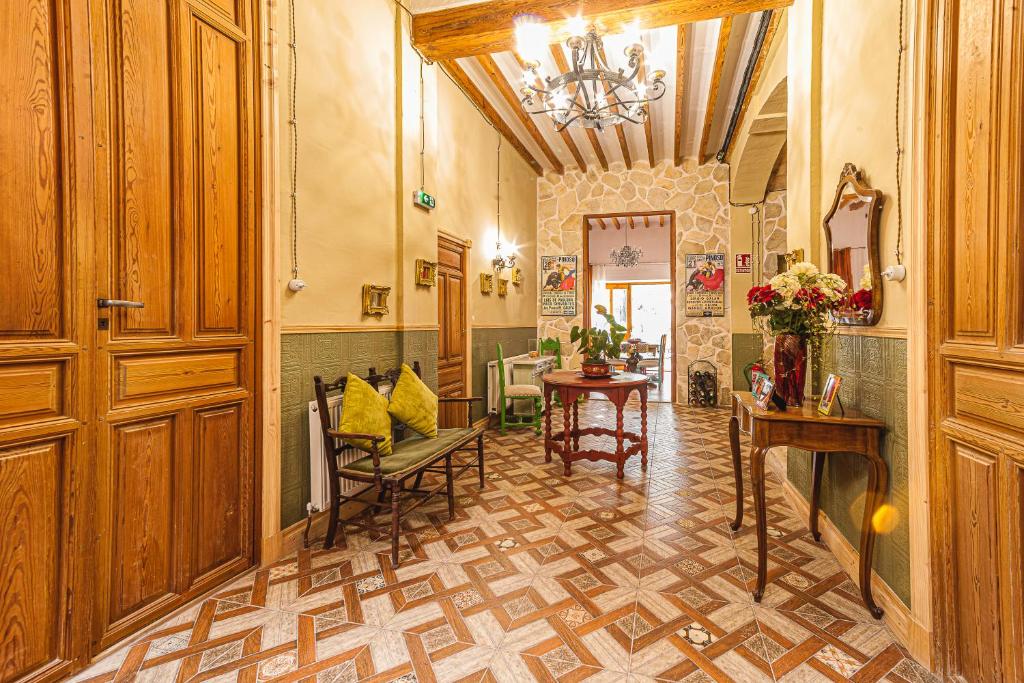
[[[465,396],[467,249],[446,238],[437,241],[437,395]],[[465,408],[439,416],[441,425],[462,424]]]

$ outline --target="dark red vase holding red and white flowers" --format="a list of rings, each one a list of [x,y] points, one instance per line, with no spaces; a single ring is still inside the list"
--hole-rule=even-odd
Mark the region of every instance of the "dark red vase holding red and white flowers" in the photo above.
[[[801,262],[746,293],[754,324],[775,337],[775,392],[787,405],[803,404],[808,345],[820,355],[846,291],[839,275]]]

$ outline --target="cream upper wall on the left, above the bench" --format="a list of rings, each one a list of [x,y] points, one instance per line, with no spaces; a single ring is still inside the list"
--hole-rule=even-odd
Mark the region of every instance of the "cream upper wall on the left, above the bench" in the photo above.
[[[391,0],[306,0],[298,44],[298,256],[307,289],[284,290],[285,332],[350,327],[430,328],[437,292],[415,285],[415,260],[437,258],[437,232],[471,240],[470,324],[536,323],[537,176],[506,144],[506,242],[520,246],[524,284],[506,299],[475,286],[495,241],[497,133],[436,66],[424,69],[426,189],[438,208],[412,204],[420,186],[420,60],[408,16]],[[400,22],[396,24],[396,18]],[[287,34],[287,15],[282,33]],[[396,31],[400,34],[396,37]],[[291,55],[281,46],[282,288],[291,278]],[[397,55],[397,58],[396,58]],[[400,122],[400,125],[399,123]],[[400,143],[399,143],[400,140]],[[444,141],[438,145],[438,140]],[[361,286],[392,287],[391,314],[361,314]]]

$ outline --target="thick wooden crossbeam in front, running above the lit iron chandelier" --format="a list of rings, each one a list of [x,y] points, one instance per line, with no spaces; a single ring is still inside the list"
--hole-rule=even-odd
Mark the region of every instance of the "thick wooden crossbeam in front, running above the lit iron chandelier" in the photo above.
[[[639,22],[644,29],[787,7],[793,0],[504,0],[478,2],[413,15],[413,43],[430,59],[453,59],[511,50],[515,18],[529,14],[551,26],[551,39],[569,37],[566,19],[578,14],[604,34]]]

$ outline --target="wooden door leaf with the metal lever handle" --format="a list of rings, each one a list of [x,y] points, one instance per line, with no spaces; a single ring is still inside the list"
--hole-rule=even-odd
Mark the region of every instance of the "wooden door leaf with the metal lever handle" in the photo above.
[[[90,4],[98,650],[254,559],[258,5]]]

